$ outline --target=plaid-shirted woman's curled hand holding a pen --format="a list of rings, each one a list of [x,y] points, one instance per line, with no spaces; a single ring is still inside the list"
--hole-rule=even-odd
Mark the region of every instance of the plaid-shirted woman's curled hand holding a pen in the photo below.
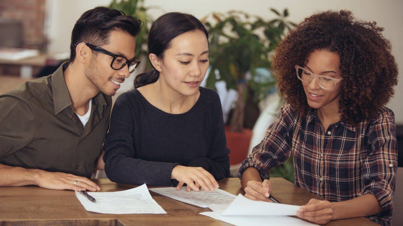
[[[244,191],[245,197],[248,199],[272,202],[269,199],[272,187],[270,185],[270,181],[267,179],[263,182],[248,181],[247,187],[245,187]]]

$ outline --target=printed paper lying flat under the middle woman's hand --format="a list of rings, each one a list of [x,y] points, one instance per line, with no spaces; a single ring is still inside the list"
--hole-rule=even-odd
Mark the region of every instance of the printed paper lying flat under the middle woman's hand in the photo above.
[[[237,197],[218,188],[214,191],[192,190],[189,192],[186,191],[186,187],[182,187],[181,190],[177,190],[174,187],[150,188],[149,190],[202,208],[207,208],[209,204],[229,204]]]

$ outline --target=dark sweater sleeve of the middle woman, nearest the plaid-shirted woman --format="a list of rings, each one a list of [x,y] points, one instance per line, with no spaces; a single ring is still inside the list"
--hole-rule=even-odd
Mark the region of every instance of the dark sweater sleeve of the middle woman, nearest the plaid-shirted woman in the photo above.
[[[216,180],[220,180],[229,177],[229,149],[226,147],[220,97],[214,90],[211,92],[213,133],[210,150],[207,157],[195,158],[189,162],[188,166],[202,167],[210,172]]]

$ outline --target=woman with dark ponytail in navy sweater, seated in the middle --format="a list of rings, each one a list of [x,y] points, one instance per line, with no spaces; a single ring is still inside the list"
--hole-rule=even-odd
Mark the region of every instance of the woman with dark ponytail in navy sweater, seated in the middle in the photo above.
[[[118,97],[104,144],[111,181],[218,188],[229,176],[220,99],[199,87],[206,75],[208,31],[194,16],[170,12],[152,25],[148,39],[153,70],[135,78]]]

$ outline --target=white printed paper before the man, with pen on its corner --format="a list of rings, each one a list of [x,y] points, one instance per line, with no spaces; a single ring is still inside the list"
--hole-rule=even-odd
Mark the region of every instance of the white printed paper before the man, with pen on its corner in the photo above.
[[[166,214],[151,197],[147,185],[114,192],[88,192],[96,199],[93,203],[84,195],[75,192],[85,210],[101,214]]]

